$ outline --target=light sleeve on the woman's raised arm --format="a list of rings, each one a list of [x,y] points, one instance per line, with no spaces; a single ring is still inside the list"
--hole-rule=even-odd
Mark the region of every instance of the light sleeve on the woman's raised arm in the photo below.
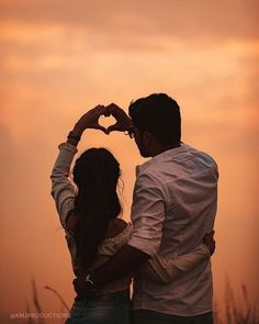
[[[63,143],[58,148],[59,154],[50,175],[52,195],[56,203],[60,223],[66,228],[67,216],[75,208],[75,188],[69,180],[69,174],[74,156],[78,150],[69,143]]]

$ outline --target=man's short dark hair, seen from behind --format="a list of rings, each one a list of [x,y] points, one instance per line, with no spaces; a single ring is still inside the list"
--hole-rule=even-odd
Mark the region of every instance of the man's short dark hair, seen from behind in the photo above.
[[[130,104],[128,114],[140,132],[151,133],[162,145],[181,141],[181,114],[176,100],[154,93]]]

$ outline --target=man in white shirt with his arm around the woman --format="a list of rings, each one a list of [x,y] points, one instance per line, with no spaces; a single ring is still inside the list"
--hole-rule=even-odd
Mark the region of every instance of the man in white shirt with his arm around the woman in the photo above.
[[[173,99],[164,93],[138,99],[130,105],[131,120],[114,104],[106,114],[116,119],[109,132],[128,131],[140,155],[151,158],[137,168],[132,237],[87,281],[75,281],[85,295],[136,271],[157,253],[172,258],[190,252],[212,231],[216,214],[216,164],[181,142],[180,108]],[[204,261],[169,284],[137,273],[133,323],[213,323],[211,264]]]

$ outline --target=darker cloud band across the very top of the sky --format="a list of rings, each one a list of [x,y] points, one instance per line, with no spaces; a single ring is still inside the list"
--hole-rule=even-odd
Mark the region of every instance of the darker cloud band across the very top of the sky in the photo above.
[[[258,37],[256,0],[1,1],[4,22],[63,25],[90,33],[183,38]]]

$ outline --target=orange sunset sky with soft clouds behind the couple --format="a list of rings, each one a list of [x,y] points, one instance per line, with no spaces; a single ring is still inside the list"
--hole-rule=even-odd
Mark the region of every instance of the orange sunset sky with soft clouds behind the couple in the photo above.
[[[72,302],[70,258],[49,194],[57,145],[97,104],[127,111],[153,92],[179,102],[183,142],[219,167],[215,300],[223,304],[229,278],[237,299],[244,283],[258,303],[258,13],[256,0],[0,0],[1,323],[33,309],[32,276],[44,311],[60,311],[45,284]],[[121,163],[130,220],[144,159],[124,134],[87,131],[79,150],[93,145]]]

